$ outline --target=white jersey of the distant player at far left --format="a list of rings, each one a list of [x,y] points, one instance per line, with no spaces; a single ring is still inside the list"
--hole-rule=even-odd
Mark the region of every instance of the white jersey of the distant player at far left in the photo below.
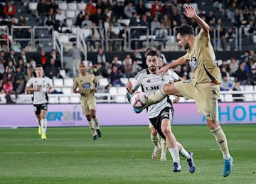
[[[53,87],[53,81],[48,77],[31,77],[27,84],[27,87],[41,86],[40,91],[33,92],[33,104],[48,103],[47,90],[49,87]]]

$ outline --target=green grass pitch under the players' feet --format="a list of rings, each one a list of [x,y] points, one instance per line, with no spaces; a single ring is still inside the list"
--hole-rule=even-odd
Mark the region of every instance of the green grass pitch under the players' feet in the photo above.
[[[151,159],[148,126],[102,126],[92,141],[88,127],[48,127],[46,141],[36,128],[0,129],[0,183],[256,183],[256,125],[223,125],[234,158],[222,176],[223,158],[208,126],[173,126],[176,139],[193,151],[196,172],[181,157]]]

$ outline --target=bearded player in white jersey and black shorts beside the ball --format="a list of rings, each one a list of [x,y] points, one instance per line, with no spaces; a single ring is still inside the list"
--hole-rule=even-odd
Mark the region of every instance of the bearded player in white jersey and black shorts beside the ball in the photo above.
[[[149,96],[163,87],[164,84],[175,82],[180,78],[172,71],[166,72],[163,76],[157,74],[159,70],[159,54],[156,53],[155,50],[151,50],[146,55],[146,65],[148,66],[147,69],[140,71],[137,76],[134,77],[134,80],[127,82],[126,88],[129,92],[135,92],[140,86],[142,91]],[[187,159],[190,173],[194,173],[195,165],[193,163],[193,153],[187,152],[183,146],[176,141],[176,137],[171,131],[171,123],[174,114],[171,99],[166,97],[161,102],[147,107],[146,110],[149,121],[161,138],[166,141],[167,148],[174,161],[173,171],[181,171],[179,158],[179,154],[181,154],[181,156]]]

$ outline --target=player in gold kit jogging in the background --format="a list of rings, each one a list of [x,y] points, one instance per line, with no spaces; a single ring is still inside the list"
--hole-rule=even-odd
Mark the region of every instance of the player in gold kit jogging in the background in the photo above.
[[[80,75],[75,77],[73,92],[81,95],[82,113],[88,121],[89,128],[92,131],[93,140],[101,137],[99,121],[96,117],[96,98],[97,78],[95,75],[86,71],[85,63],[79,64]]]

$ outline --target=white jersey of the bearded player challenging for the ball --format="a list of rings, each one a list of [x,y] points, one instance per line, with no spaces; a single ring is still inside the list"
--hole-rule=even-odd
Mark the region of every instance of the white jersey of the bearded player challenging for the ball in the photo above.
[[[151,94],[160,90],[164,84],[168,84],[170,82],[178,81],[179,77],[176,72],[169,70],[163,76],[157,74],[150,74],[149,70],[144,69],[141,70],[132,80],[132,90],[137,90],[139,87],[142,87],[142,92],[145,92],[149,97]],[[159,115],[164,107],[171,107],[172,103],[168,102],[169,97],[161,100],[161,102],[157,104],[152,104],[147,108],[147,114],[149,118],[154,118]]]

